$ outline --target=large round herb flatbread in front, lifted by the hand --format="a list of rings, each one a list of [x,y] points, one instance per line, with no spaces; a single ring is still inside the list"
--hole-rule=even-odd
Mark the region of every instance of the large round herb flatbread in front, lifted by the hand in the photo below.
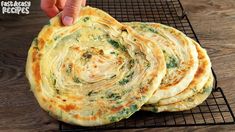
[[[81,9],[72,26],[50,20],[28,52],[26,75],[40,106],[82,126],[138,111],[166,72],[161,49],[107,13]]]

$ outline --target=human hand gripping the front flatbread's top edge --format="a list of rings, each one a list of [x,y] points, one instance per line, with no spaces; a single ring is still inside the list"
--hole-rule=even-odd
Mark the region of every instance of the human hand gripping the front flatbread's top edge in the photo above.
[[[49,17],[56,16],[62,11],[61,19],[64,25],[72,25],[77,19],[81,6],[86,5],[86,0],[41,0],[41,9]]]

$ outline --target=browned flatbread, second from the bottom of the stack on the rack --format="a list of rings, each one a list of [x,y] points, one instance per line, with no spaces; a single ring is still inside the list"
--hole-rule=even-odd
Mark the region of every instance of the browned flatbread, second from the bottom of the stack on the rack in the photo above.
[[[196,46],[196,49],[198,52],[198,59],[199,59],[199,66],[198,66],[196,74],[194,75],[192,82],[181,93],[179,93],[173,97],[160,100],[158,102],[159,106],[172,104],[172,103],[176,103],[176,102],[185,100],[185,99],[193,96],[194,94],[198,93],[203,88],[205,83],[207,82],[207,80],[211,74],[210,58],[207,55],[207,52],[205,49],[203,49],[194,40],[192,40],[192,41],[193,41],[193,44]]]

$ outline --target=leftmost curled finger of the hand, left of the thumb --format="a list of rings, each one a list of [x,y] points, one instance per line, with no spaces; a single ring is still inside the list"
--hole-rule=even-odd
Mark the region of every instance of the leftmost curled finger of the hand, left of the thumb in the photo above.
[[[41,9],[49,17],[54,17],[59,13],[59,9],[55,6],[56,0],[41,0]]]

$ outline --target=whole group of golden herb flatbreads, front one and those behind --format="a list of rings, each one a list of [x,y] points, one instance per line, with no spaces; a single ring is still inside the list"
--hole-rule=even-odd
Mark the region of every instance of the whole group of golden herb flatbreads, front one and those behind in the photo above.
[[[211,93],[210,59],[197,42],[159,23],[120,23],[84,7],[59,15],[34,39],[26,75],[40,106],[66,123],[97,126],[136,111],[183,111]]]

